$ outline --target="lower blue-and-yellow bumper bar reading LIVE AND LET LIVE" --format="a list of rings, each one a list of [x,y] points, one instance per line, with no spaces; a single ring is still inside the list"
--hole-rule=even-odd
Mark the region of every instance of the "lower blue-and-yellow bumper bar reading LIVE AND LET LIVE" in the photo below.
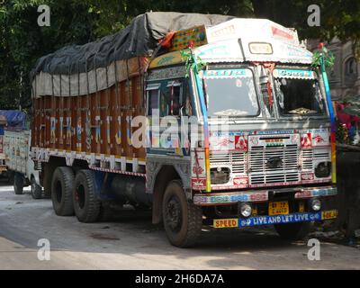
[[[338,216],[337,210],[302,212],[275,216],[256,216],[247,219],[214,219],[212,226],[214,228],[244,228],[261,225],[274,225],[286,223],[299,223],[308,221],[331,220]]]

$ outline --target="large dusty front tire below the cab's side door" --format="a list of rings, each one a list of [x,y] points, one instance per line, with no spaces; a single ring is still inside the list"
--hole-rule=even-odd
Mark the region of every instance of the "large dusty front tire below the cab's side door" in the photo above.
[[[166,236],[175,247],[191,247],[202,232],[202,208],[188,202],[181,181],[167,187],[162,205]]]

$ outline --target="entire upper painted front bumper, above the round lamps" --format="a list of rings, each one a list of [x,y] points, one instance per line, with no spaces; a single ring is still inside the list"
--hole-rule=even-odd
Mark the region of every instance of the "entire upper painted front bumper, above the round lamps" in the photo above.
[[[223,193],[195,193],[193,203],[201,206],[234,204],[238,202],[267,202],[275,194],[288,194],[293,199],[307,199],[313,197],[335,196],[338,194],[337,187],[295,187],[281,189],[267,189],[247,192],[223,192]]]

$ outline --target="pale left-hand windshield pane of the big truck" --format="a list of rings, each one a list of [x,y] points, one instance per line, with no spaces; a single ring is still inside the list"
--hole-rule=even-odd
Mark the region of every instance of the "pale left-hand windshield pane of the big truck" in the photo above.
[[[250,69],[207,70],[204,84],[209,117],[259,114],[254,76]]]

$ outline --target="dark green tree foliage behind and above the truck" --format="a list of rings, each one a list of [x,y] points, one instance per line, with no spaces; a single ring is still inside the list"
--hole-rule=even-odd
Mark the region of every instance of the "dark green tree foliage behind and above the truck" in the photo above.
[[[40,4],[51,9],[50,27],[37,25]],[[320,27],[307,24],[310,4],[312,0],[0,0],[0,108],[31,107],[29,72],[41,56],[119,31],[149,11],[268,18],[296,28],[302,39],[352,40],[360,58],[360,2],[317,1]]]

